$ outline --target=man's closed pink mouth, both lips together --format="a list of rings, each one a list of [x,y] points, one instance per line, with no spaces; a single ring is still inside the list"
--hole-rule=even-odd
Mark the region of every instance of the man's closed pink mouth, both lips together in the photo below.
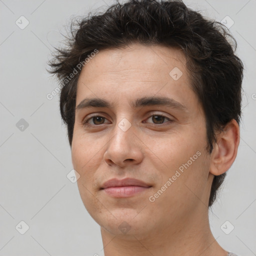
[[[121,180],[113,178],[103,183],[100,190],[103,190],[107,195],[115,198],[125,198],[141,193],[150,187],[152,186],[142,180],[134,178],[125,178]]]

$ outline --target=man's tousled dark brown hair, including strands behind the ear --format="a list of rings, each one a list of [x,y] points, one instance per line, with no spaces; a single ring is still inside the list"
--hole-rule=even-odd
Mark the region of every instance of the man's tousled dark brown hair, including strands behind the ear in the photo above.
[[[186,57],[191,88],[205,114],[207,146],[211,153],[216,132],[231,119],[240,122],[243,64],[234,54],[236,41],[221,23],[203,17],[181,0],[128,0],[111,5],[105,12],[71,22],[67,46],[55,48],[50,73],[62,84],[60,113],[72,143],[76,85],[80,70],[66,79],[94,49],[121,48],[133,42],[179,48]],[[77,69],[77,68],[76,68]],[[208,206],[226,172],[214,176]]]

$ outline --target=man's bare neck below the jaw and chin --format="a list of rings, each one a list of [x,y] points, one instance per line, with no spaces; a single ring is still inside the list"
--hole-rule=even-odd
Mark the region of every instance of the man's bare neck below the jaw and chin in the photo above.
[[[220,247],[210,231],[208,210],[203,212],[201,215],[195,212],[169,225],[165,223],[147,234],[115,235],[101,227],[104,255],[227,256],[228,252]]]

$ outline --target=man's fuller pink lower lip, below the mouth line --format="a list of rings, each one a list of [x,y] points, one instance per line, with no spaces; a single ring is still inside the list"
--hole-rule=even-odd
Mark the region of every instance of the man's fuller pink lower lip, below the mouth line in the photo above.
[[[145,191],[150,187],[144,186],[111,186],[104,188],[103,190],[110,196],[113,197],[129,197]]]

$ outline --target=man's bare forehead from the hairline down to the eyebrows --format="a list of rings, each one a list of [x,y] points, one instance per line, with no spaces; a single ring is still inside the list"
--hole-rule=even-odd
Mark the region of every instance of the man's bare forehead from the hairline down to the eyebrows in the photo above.
[[[99,50],[81,70],[76,105],[88,96],[117,102],[156,94],[196,103],[185,63],[180,49],[162,45],[134,43]]]

